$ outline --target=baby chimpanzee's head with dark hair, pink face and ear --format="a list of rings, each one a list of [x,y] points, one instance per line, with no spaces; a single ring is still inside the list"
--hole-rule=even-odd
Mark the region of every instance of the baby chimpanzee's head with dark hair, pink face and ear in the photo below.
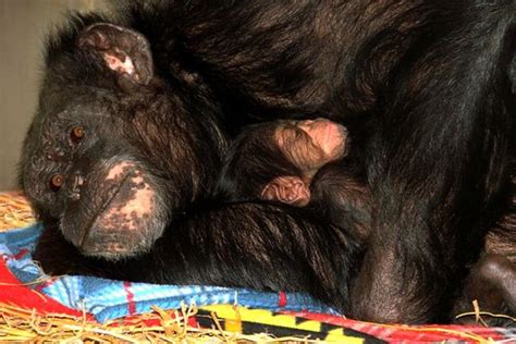
[[[347,130],[325,119],[274,121],[243,131],[230,147],[219,193],[231,200],[306,206],[317,171],[347,153]]]

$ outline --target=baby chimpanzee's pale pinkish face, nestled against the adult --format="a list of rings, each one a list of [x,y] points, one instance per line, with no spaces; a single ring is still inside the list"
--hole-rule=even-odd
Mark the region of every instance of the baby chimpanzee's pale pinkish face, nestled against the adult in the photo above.
[[[288,121],[275,131],[285,157],[305,174],[314,174],[325,163],[345,156],[347,130],[325,119]]]

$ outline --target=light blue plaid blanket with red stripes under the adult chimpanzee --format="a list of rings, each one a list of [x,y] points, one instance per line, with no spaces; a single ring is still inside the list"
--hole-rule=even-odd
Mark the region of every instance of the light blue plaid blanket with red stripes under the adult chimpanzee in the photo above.
[[[181,308],[182,304],[239,305],[268,310],[337,314],[334,309],[300,293],[262,293],[246,288],[206,285],[157,285],[130,283],[83,275],[50,279],[32,260],[41,225],[0,233],[0,255],[9,269],[23,283],[57,299],[61,304],[91,314],[98,321],[151,310]],[[34,283],[41,281],[39,283]]]

